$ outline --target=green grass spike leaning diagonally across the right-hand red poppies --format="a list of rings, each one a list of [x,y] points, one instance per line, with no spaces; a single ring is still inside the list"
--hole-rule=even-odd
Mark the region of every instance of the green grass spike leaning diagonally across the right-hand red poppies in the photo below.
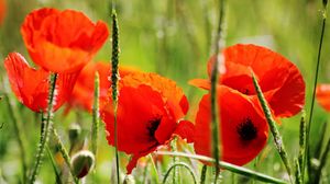
[[[275,147],[276,147],[276,149],[277,149],[277,151],[280,156],[280,159],[282,159],[285,168],[286,168],[286,171],[289,175],[289,179],[293,182],[293,179],[292,179],[293,169],[292,169],[290,162],[288,160],[288,156],[287,156],[287,152],[285,150],[284,143],[282,141],[282,136],[280,136],[280,134],[279,134],[279,131],[276,127],[276,122],[274,120],[274,118],[272,116],[271,110],[267,105],[267,101],[265,100],[265,96],[264,96],[264,94],[263,94],[263,92],[262,92],[262,90],[261,90],[253,72],[252,72],[252,79],[253,79],[253,84],[254,84],[255,91],[257,93],[258,102],[262,105],[262,108],[263,108],[263,112],[266,116],[270,129],[273,134]]]

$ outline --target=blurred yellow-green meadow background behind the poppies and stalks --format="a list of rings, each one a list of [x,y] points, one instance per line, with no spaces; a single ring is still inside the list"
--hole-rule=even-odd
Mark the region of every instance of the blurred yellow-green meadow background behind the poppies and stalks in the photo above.
[[[34,9],[53,7],[59,10],[74,9],[86,13],[91,20],[102,20],[111,27],[111,1],[105,0],[7,0],[7,15],[0,27],[0,60],[10,51],[19,51],[31,62],[24,47],[20,26],[25,15]],[[194,120],[198,101],[205,91],[187,84],[194,78],[207,78],[206,62],[211,53],[215,30],[218,20],[217,0],[118,0],[116,8],[120,26],[120,64],[132,66],[143,71],[157,72],[175,80],[187,94],[190,102],[188,118]],[[321,0],[227,0],[226,45],[252,43],[267,46],[280,53],[295,62],[306,81],[306,111],[309,114],[312,81],[317,61],[317,51],[321,32]],[[327,23],[321,56],[319,82],[330,83],[330,31]],[[95,57],[95,60],[109,61],[111,57],[110,38]],[[1,88],[8,87],[3,65],[0,65]],[[3,79],[3,80],[2,80]],[[29,163],[33,163],[36,142],[40,134],[38,117],[30,110],[16,103],[16,111],[22,123]],[[55,127],[58,129],[66,145],[67,130],[72,123],[78,122],[89,136],[91,117],[89,114],[70,113],[63,116],[63,111],[56,113]],[[283,119],[280,131],[290,159],[298,153],[299,118]],[[329,120],[327,112],[316,104],[311,125],[311,150],[316,149],[322,124]],[[1,179],[8,183],[20,183],[20,151],[15,131],[11,124],[6,102],[0,101],[0,183]],[[329,139],[330,126],[326,130]],[[103,129],[100,136],[100,151],[98,156],[97,174],[87,181],[109,183],[113,172],[113,148],[107,145]],[[272,138],[270,136],[270,138]],[[123,156],[123,158],[125,158]],[[165,171],[170,159],[165,159],[161,171]],[[196,169],[200,163],[194,162]],[[124,163],[121,164],[122,168]],[[272,139],[256,161],[248,165],[276,177],[283,177],[285,170],[274,149]],[[329,162],[328,162],[329,169]],[[151,170],[151,166],[148,166]],[[327,170],[326,170],[327,171]],[[123,169],[124,172],[124,169]],[[138,183],[142,183],[141,173],[135,172]],[[183,173],[185,173],[183,171]],[[324,172],[324,183],[329,182],[330,172]],[[183,180],[189,181],[188,174]],[[153,181],[150,176],[148,181]],[[242,179],[229,172],[223,173],[227,182],[239,182]],[[38,179],[43,183],[54,183],[55,176],[47,157]],[[87,182],[87,183],[89,183]],[[224,183],[227,183],[224,182]]]

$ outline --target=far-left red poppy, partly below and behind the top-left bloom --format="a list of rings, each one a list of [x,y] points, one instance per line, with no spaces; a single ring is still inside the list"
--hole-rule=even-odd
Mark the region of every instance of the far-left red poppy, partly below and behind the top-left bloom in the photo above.
[[[19,101],[34,112],[46,111],[51,72],[30,67],[24,57],[18,53],[9,54],[4,60],[4,68],[11,89]],[[54,111],[67,100],[76,78],[76,73],[58,74]]]

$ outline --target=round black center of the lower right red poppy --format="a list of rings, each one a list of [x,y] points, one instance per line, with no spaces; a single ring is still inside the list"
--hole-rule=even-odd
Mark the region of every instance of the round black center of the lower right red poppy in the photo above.
[[[242,140],[253,140],[256,138],[257,129],[250,118],[245,118],[238,125],[237,131]]]

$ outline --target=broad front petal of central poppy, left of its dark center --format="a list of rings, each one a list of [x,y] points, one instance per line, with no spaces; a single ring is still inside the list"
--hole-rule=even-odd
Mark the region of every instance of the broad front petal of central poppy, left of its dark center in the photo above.
[[[153,136],[161,123],[157,120],[161,120],[164,113],[160,107],[164,105],[160,93],[147,85],[140,85],[136,89],[122,88],[118,104],[118,149],[130,154],[158,146]],[[112,103],[105,106],[102,115],[108,142],[114,145]]]

